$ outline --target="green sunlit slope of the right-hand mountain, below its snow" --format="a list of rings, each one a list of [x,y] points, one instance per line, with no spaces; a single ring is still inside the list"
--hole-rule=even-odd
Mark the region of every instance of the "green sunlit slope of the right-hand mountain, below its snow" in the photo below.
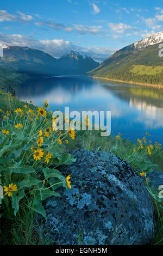
[[[88,74],[112,80],[163,85],[163,57],[159,57],[159,44],[136,50],[134,44],[124,47]]]

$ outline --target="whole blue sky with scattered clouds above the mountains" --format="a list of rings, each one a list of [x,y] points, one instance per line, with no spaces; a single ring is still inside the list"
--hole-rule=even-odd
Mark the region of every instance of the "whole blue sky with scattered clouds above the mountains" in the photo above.
[[[0,45],[37,48],[57,58],[73,49],[104,60],[132,42],[163,31],[161,2],[1,1]]]

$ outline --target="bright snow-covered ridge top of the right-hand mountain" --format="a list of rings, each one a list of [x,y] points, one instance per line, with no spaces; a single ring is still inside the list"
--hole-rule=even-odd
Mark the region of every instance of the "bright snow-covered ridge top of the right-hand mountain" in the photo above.
[[[144,38],[140,41],[134,43],[135,50],[143,47],[147,47],[149,45],[155,45],[159,42],[163,41],[163,32],[155,33],[147,38]]]

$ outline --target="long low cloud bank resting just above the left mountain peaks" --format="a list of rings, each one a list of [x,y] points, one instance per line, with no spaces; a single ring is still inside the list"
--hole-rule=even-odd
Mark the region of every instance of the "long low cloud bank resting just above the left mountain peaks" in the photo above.
[[[15,45],[15,46],[28,46],[30,48],[36,48],[38,50],[45,51],[51,54],[53,57],[61,57],[71,50],[82,52],[93,59],[104,60],[108,58],[117,49],[111,47],[81,47],[75,45],[68,40],[54,39],[54,40],[36,40],[33,36],[14,34],[9,35],[0,33],[0,45]]]

